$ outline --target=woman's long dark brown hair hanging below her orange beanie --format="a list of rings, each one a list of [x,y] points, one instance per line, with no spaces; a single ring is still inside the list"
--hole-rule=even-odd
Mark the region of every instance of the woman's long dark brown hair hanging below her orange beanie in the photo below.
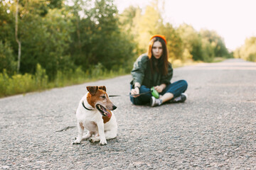
[[[154,45],[154,42],[159,41],[161,42],[162,49],[163,49],[163,54],[159,59],[156,59],[153,56],[152,48]],[[162,38],[159,37],[154,37],[150,42],[149,42],[149,51],[148,51],[148,57],[149,57],[149,62],[150,62],[150,67],[151,67],[151,72],[160,72],[163,75],[168,74],[168,50],[166,47],[166,43]]]

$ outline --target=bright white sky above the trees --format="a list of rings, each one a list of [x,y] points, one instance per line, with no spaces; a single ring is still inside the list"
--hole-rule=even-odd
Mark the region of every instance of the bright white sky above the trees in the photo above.
[[[114,0],[114,3],[121,13],[130,5],[144,9],[151,1]],[[165,0],[163,18],[176,28],[187,23],[197,31],[214,30],[230,51],[243,45],[246,38],[256,37],[256,0]]]

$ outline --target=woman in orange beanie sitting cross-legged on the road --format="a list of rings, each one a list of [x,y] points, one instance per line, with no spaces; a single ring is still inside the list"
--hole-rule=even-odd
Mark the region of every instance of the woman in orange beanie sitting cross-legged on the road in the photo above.
[[[131,94],[135,96],[131,96],[130,100],[134,105],[150,103],[153,107],[160,106],[166,101],[186,101],[187,95],[184,92],[188,87],[187,82],[179,80],[171,83],[173,69],[168,62],[164,35],[154,35],[150,38],[149,51],[137,58],[131,73]],[[142,94],[150,91],[152,86],[160,94],[159,98],[155,98],[151,93]]]

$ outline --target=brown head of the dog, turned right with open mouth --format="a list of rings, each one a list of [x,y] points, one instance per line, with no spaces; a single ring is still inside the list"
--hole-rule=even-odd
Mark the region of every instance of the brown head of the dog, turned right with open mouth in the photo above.
[[[87,86],[87,91],[89,94],[87,95],[87,102],[93,108],[97,108],[98,111],[103,116],[110,117],[110,111],[114,111],[117,106],[110,101],[110,98],[107,96],[106,87],[105,86]],[[110,110],[110,111],[108,111]]]

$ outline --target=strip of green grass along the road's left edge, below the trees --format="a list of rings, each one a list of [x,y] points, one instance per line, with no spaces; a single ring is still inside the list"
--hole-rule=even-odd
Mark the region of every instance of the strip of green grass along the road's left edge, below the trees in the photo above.
[[[124,74],[128,74],[125,73],[124,69],[113,72],[95,67],[95,69],[83,72],[78,67],[75,71],[58,72],[54,81],[48,81],[46,70],[42,69],[39,64],[34,75],[14,74],[9,77],[4,70],[3,73],[0,73],[0,98],[16,94],[26,94],[33,91],[44,91],[55,87],[83,84],[100,79],[110,79]]]

